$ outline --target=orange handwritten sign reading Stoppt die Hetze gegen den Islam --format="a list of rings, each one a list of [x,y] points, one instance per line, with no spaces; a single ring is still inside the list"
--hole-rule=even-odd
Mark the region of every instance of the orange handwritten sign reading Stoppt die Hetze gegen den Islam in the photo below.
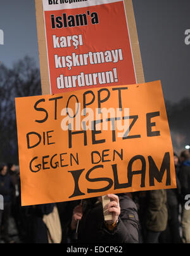
[[[175,187],[160,81],[16,98],[16,121],[22,205]]]

